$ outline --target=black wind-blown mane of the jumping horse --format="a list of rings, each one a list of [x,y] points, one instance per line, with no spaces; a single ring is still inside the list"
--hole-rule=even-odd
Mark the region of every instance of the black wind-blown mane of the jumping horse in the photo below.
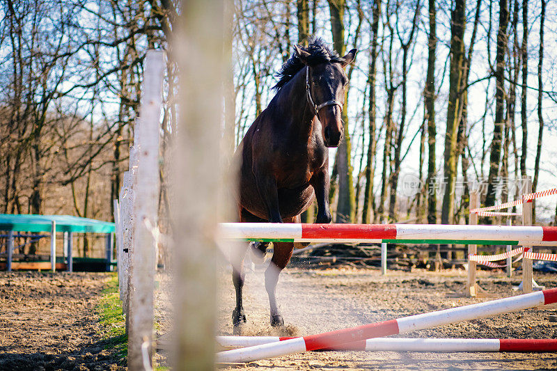
[[[338,56],[337,52],[331,50],[321,38],[311,36],[308,40],[307,47],[301,45],[298,45],[298,47],[311,54],[306,59],[308,65],[317,65],[319,63],[343,63],[345,61],[344,58]],[[306,65],[300,60],[296,50],[294,50],[292,56],[283,64],[281,70],[278,70],[276,73],[278,82],[273,86],[273,89],[281,90],[281,88],[305,66]]]

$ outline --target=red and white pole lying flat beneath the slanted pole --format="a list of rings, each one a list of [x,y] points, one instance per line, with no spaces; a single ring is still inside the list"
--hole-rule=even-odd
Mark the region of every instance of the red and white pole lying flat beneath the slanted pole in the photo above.
[[[217,336],[222,347],[253,347],[293,338],[278,336]],[[375,338],[327,350],[368,352],[557,352],[557,339]]]

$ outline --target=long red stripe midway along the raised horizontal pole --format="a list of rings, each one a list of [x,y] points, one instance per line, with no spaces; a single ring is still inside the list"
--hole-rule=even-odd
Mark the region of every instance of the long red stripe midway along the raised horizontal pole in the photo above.
[[[303,239],[396,239],[394,224],[303,224]]]

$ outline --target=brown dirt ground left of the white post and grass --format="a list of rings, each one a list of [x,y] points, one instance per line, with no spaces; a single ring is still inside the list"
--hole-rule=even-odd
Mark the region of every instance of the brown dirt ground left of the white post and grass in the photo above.
[[[0,370],[122,370],[95,312],[108,278],[0,272]]]

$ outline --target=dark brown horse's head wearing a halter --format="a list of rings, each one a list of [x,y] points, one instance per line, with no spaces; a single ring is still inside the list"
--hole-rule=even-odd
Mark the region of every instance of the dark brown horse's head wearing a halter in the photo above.
[[[344,68],[354,61],[356,49],[327,62],[311,63],[311,54],[295,46],[299,60],[306,65],[306,99],[321,122],[321,134],[327,147],[338,147],[344,135],[342,120],[348,78]]]

